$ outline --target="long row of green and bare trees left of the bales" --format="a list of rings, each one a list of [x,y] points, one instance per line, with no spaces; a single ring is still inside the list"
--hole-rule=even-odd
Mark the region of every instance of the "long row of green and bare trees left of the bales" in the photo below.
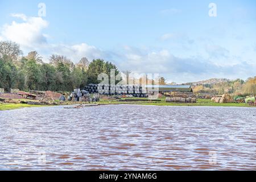
[[[21,54],[18,44],[0,42],[0,88],[71,91],[84,88],[89,83],[99,83],[98,75],[110,75],[110,69],[119,73],[113,63],[102,59],[89,62],[82,57],[79,63],[74,64],[63,55],[51,55],[49,63],[44,63],[36,51],[20,57]]]

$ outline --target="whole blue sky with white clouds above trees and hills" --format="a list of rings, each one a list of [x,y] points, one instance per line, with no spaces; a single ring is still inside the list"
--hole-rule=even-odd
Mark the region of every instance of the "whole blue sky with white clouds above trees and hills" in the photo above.
[[[177,83],[256,76],[254,0],[0,0],[0,9],[0,40],[45,62],[104,59]]]

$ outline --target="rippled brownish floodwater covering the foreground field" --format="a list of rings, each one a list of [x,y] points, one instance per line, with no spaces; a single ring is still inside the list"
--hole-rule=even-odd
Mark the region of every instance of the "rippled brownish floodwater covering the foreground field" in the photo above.
[[[256,108],[63,107],[0,111],[0,169],[256,169]]]

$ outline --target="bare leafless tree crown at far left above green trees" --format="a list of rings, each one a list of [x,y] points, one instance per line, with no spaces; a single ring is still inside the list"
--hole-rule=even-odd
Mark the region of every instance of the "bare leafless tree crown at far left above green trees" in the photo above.
[[[19,55],[22,55],[20,47],[15,42],[0,41],[0,57],[10,56],[13,59],[17,59]]]

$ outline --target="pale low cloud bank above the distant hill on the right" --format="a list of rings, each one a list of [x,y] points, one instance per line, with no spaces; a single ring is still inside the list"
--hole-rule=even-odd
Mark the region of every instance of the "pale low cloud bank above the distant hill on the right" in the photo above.
[[[151,51],[148,53],[138,53],[130,51],[120,57],[117,64],[121,70],[130,70],[134,73],[159,73],[160,76],[168,78],[168,81],[191,82],[204,80],[211,77],[230,79],[246,79],[252,75],[256,69],[255,64],[247,62],[238,64],[218,65],[203,57],[177,57],[170,51]],[[246,71],[250,68],[249,71]]]

